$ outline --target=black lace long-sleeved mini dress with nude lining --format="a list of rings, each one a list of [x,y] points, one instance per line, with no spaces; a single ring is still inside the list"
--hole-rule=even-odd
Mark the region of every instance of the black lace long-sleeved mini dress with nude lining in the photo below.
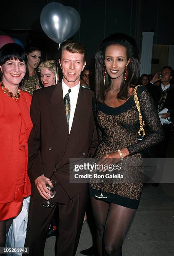
[[[142,119],[149,133],[142,141],[138,141],[139,115],[133,95],[121,106],[112,108],[103,103],[94,102],[94,116],[99,134],[99,146],[95,158],[99,159],[112,154],[118,149],[127,148],[129,156],[121,162],[125,176],[132,177],[132,182],[104,183],[102,185],[103,200],[124,207],[137,209],[143,186],[143,163],[141,152],[159,143],[163,139],[163,131],[152,97],[145,87],[137,88]],[[134,161],[131,166],[130,161]],[[128,167],[129,166],[129,167]],[[134,182],[135,180],[135,182]],[[100,194],[101,185],[90,181],[89,193],[95,197]]]

